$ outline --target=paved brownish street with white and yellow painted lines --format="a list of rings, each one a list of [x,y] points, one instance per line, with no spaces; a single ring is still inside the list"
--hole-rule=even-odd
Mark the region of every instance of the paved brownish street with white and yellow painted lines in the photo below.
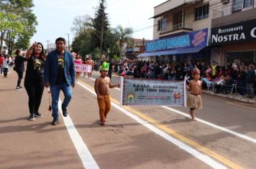
[[[0,77],[0,168],[256,168],[255,104],[203,94],[203,110],[191,121],[184,107],[120,107],[120,90],[111,89],[102,127],[93,74],[76,84],[69,115],[56,126],[47,90],[44,117],[29,121],[16,72]]]

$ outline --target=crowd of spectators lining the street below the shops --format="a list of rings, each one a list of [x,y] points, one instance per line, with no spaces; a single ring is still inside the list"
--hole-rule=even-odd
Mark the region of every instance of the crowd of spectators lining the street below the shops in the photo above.
[[[186,80],[192,78],[191,70],[197,67],[201,71],[201,80],[205,89],[216,93],[237,92],[239,96],[255,97],[256,69],[254,64],[244,62],[228,63],[220,66],[218,62],[170,62],[160,63],[142,60],[124,59],[113,64],[113,72],[122,76],[145,79]],[[235,90],[232,88],[235,87]]]

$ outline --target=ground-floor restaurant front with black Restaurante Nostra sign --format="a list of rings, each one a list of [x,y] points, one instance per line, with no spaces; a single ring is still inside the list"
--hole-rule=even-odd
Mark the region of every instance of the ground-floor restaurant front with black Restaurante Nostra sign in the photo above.
[[[223,65],[256,62],[256,19],[211,29],[211,46],[219,48]]]

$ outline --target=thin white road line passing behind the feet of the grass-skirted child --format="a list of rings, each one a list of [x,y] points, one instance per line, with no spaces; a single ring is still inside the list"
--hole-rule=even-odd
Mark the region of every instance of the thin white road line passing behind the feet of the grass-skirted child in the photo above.
[[[172,112],[176,112],[176,113],[178,113],[178,114],[180,114],[180,115],[183,115],[183,116],[185,116],[185,117],[190,117],[190,115],[186,114],[185,112],[181,112],[181,111],[179,111],[179,110],[175,110],[175,109],[170,108],[170,107],[167,107],[167,106],[161,106],[161,107],[163,107],[163,108],[165,108],[165,109],[167,109],[167,110],[170,110],[170,111],[172,111]],[[196,120],[197,120],[198,122],[202,122],[202,123],[204,123],[204,124],[206,124],[206,125],[209,125],[209,126],[211,126],[211,127],[217,128],[217,129],[222,130],[222,131],[224,131],[224,132],[229,132],[229,133],[232,134],[232,135],[235,135],[235,136],[237,136],[237,137],[241,137],[241,138],[243,138],[243,139],[245,139],[245,140],[248,140],[248,141],[250,141],[250,142],[252,142],[252,143],[256,143],[256,140],[255,140],[254,138],[248,137],[247,135],[242,135],[242,134],[239,133],[239,132],[234,132],[234,131],[232,131],[232,130],[229,130],[229,129],[227,129],[227,128],[221,127],[221,126],[219,126],[219,125],[214,125],[214,124],[211,123],[211,122],[207,122],[207,121],[205,121],[205,120],[201,120],[201,119],[199,119],[199,118],[197,118],[197,117],[196,117]]]

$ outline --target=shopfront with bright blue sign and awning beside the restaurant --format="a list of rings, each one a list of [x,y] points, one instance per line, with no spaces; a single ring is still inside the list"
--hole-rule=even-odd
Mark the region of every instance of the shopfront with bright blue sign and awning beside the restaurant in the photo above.
[[[149,57],[154,62],[209,62],[208,29],[175,34],[146,43],[145,53],[137,57]]]

